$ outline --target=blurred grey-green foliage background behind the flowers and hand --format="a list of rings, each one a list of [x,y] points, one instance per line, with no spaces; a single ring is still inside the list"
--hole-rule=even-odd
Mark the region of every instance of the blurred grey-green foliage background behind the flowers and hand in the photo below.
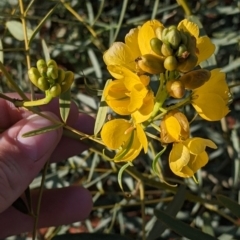
[[[23,3],[26,8],[30,1],[24,0]],[[188,4],[194,19],[197,17],[202,23],[201,34],[207,34],[216,45],[215,56],[204,63],[204,66],[209,69],[221,68],[226,73],[232,93],[231,112],[221,122],[206,122],[197,118],[191,124],[192,136],[209,138],[218,145],[217,150],[209,152],[209,163],[197,175],[199,184],[195,184],[191,179],[177,178],[171,173],[168,167],[170,149],[161,157],[163,176],[168,182],[178,183],[179,186],[184,186],[184,191],[202,199],[214,200],[216,194],[223,194],[238,202],[240,1],[194,0],[188,1]],[[79,111],[93,117],[96,116],[100,102],[96,90],[102,90],[106,80],[110,78],[102,60],[104,51],[114,41],[123,42],[131,28],[142,25],[147,20],[157,19],[165,26],[170,26],[184,19],[183,8],[173,0],[35,0],[31,1],[26,16],[28,28],[34,30],[50,11],[52,14],[31,42],[31,64],[35,66],[38,59],[50,54],[58,65],[73,71],[73,100],[79,106]],[[0,1],[0,60],[22,90],[29,92],[24,41],[16,39],[6,27],[8,21],[19,21],[19,14],[17,0]],[[11,92],[6,78],[1,76],[0,79],[0,91]],[[37,89],[35,90],[37,92]],[[193,109],[188,107],[185,110],[191,119],[195,114]],[[156,153],[161,149],[157,141],[152,141],[151,147]],[[142,175],[157,179],[151,170],[152,159],[151,152],[140,155],[134,161],[134,166]],[[114,163],[105,161],[91,151],[66,159],[65,162],[52,164],[47,173],[46,188],[82,184],[92,193],[94,209],[89,218],[81,223],[41,229],[39,239],[52,239],[54,236],[56,240],[73,239],[72,234],[79,233],[91,235],[74,235],[74,239],[113,239],[113,236],[107,238],[101,235],[109,233],[117,234],[119,240],[147,239],[145,236],[149,236],[148,233],[156,221],[154,209],[171,208],[170,204],[174,202],[177,194],[166,188],[146,185],[144,200],[141,201],[141,183],[124,173],[125,192],[122,192],[117,182],[117,171]],[[39,175],[31,188],[38,188],[40,180]],[[240,239],[239,228],[231,221],[236,220],[234,215],[224,207],[216,210],[214,206],[188,198],[174,215],[218,239]],[[219,213],[219,209],[223,214]],[[116,240],[118,237],[114,236]],[[24,233],[7,239],[31,239],[31,234]],[[186,238],[163,227],[162,232],[159,230],[152,239]]]

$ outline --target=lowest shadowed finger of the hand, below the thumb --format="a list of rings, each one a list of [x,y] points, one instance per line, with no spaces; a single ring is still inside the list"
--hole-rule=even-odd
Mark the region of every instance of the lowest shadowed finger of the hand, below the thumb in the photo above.
[[[38,194],[33,194],[36,206]],[[50,189],[43,193],[39,225],[41,227],[59,226],[84,220],[92,209],[90,193],[77,186]],[[13,207],[0,214],[0,239],[22,232],[32,231],[33,218]]]

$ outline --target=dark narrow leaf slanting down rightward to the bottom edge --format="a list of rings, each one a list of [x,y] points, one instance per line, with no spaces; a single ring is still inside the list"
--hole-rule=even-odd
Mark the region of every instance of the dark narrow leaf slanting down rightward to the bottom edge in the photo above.
[[[174,232],[181,236],[194,240],[216,240],[217,238],[212,237],[206,233],[201,232],[196,228],[192,228],[186,223],[171,217],[167,213],[161,210],[155,210],[156,217],[166,224],[167,227],[171,228]]]

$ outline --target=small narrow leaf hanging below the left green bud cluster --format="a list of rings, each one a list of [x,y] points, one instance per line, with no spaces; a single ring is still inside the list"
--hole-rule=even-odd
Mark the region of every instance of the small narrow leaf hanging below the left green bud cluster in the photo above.
[[[71,90],[61,93],[59,96],[59,110],[63,122],[67,122],[71,107]]]

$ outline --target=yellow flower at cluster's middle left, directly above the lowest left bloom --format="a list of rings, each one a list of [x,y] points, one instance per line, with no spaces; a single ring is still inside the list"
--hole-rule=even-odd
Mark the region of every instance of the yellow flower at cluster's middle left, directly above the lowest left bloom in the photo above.
[[[130,115],[136,123],[146,121],[154,107],[154,94],[148,89],[149,77],[138,76],[121,66],[108,66],[120,79],[110,82],[104,89],[107,104],[120,115]]]

